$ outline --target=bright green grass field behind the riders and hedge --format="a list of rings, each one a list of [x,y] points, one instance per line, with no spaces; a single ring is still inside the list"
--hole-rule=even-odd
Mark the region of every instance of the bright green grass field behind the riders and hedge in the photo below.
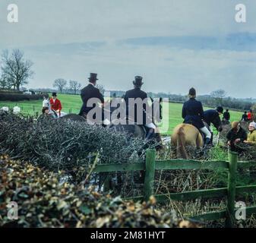
[[[58,99],[62,102],[62,111],[78,113],[82,106],[81,96],[79,95],[69,95],[69,94],[58,94]],[[14,106],[21,107],[21,111],[24,114],[34,115],[36,112],[41,113],[43,100],[36,101],[20,101],[20,102],[0,102],[0,107],[8,106],[13,108]],[[163,103],[163,117],[169,115],[168,129],[163,129],[160,127],[162,134],[171,134],[173,128],[179,123],[182,123],[182,104],[179,103]],[[169,106],[169,108],[168,108]],[[167,112],[167,109],[169,112]],[[204,110],[210,109],[204,107]],[[168,114],[169,113],[169,114]],[[165,115],[166,114],[166,115]],[[242,112],[230,111],[231,122],[238,121],[242,117]]]

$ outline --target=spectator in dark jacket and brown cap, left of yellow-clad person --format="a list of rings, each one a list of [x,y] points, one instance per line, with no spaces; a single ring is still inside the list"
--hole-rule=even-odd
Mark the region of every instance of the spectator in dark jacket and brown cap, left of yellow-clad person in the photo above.
[[[247,140],[246,131],[241,128],[239,122],[232,122],[231,130],[226,134],[227,144],[230,150],[237,153],[242,153],[242,149],[238,147]]]

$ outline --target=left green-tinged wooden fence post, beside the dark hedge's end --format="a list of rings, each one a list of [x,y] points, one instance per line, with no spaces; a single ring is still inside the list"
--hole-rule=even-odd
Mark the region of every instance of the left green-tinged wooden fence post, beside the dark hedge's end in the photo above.
[[[156,150],[147,150],[146,153],[146,172],[144,179],[144,200],[149,200],[153,195],[153,181],[155,178],[156,168]]]

